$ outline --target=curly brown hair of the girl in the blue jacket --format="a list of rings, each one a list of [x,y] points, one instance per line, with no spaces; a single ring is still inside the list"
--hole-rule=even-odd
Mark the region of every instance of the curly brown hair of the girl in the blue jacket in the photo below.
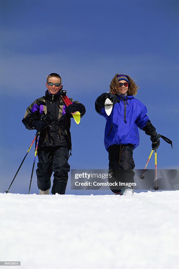
[[[119,90],[119,82],[117,80],[117,76],[119,74],[116,74],[113,79],[111,80],[111,84],[109,85],[109,89],[110,89],[110,93],[114,93],[116,94],[117,91]],[[130,84],[129,84],[129,88],[128,88],[128,91],[127,91],[127,95],[136,95],[137,94],[137,89],[139,88],[136,83],[131,79],[130,76],[128,75],[125,75],[127,76]]]

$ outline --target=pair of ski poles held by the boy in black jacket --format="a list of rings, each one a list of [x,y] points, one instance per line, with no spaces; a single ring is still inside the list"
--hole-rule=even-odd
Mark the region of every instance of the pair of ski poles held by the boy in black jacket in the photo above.
[[[43,118],[44,118],[44,111],[42,111],[40,120],[42,121]],[[32,147],[32,145],[33,145],[33,143],[34,143],[36,137],[37,137],[37,143],[36,143],[36,147],[35,147],[35,156],[34,156],[34,162],[33,162],[33,166],[32,166],[32,173],[31,173],[31,178],[30,178],[29,190],[28,190],[28,194],[30,194],[30,188],[31,188],[32,176],[33,176],[33,172],[34,172],[35,159],[36,159],[36,155],[37,155],[37,148],[38,148],[38,143],[39,143],[40,132],[36,132],[35,137],[34,137],[34,139],[32,140],[32,143],[30,144],[30,147],[28,148],[27,153],[25,154],[25,156],[24,156],[24,158],[23,158],[23,160],[22,160],[22,162],[21,162],[21,164],[20,164],[20,166],[19,166],[19,168],[18,168],[18,170],[17,170],[17,172],[16,172],[16,174],[15,174],[15,176],[14,176],[12,182],[10,183],[10,186],[9,186],[8,190],[5,190],[6,193],[9,192],[9,189],[10,189],[10,187],[12,186],[12,183],[14,182],[14,179],[16,178],[16,176],[17,176],[17,174],[18,174],[18,172],[19,172],[19,170],[20,170],[20,168],[21,168],[21,166],[22,166],[22,164],[23,164],[25,158],[27,157],[27,154],[28,154],[28,152],[30,151],[30,149],[31,149],[31,147]]]

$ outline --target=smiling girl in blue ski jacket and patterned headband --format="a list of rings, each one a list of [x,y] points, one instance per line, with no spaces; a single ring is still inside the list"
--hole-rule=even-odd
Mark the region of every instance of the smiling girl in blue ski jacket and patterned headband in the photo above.
[[[128,75],[116,74],[109,86],[110,93],[101,94],[95,102],[98,114],[106,119],[104,145],[109,154],[109,169],[113,178],[109,182],[120,181],[125,187],[110,187],[114,194],[133,194],[134,160],[133,149],[139,144],[138,128],[151,136],[152,149],[160,144],[156,129],[147,116],[147,108],[133,97],[137,85]],[[111,114],[105,112],[105,100],[113,103]]]

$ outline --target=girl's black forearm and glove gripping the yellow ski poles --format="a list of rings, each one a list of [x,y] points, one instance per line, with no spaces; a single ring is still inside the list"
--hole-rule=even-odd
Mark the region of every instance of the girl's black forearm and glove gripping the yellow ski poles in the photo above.
[[[160,145],[160,134],[157,134],[155,127],[152,125],[151,121],[148,120],[143,128],[143,131],[150,135],[150,140],[152,141],[152,149],[156,150]]]

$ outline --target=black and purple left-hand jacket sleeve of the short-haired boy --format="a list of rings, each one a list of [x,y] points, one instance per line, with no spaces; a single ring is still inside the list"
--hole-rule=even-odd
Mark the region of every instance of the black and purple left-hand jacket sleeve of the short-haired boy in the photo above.
[[[22,123],[25,125],[25,128],[28,130],[34,130],[32,127],[32,122],[38,120],[40,106],[36,103],[35,100],[25,111],[24,118]]]

